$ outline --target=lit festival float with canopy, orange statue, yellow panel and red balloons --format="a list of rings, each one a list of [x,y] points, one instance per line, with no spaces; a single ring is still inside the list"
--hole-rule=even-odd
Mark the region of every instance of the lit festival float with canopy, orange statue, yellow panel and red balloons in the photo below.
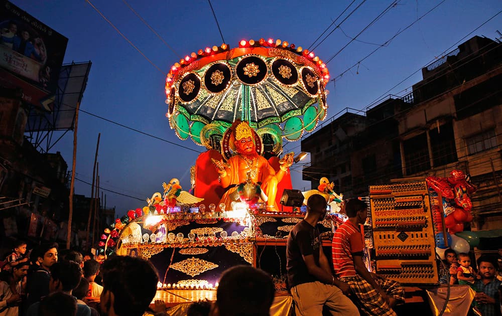
[[[166,78],[166,117],[180,139],[206,148],[191,168],[191,188],[167,175],[172,179],[143,208],[104,230],[98,255],[151,260],[161,279],[157,298],[168,302],[215,299],[220,274],[237,264],[270,272],[287,293],[286,240],[308,197],[326,198],[327,235],[345,220],[343,196],[327,178],[307,192],[292,189],[289,169],[306,153],[283,152],[284,140],[298,140],[325,118],[328,80],[313,52],[273,39],[206,47],[175,63]],[[472,220],[474,191],[461,171],[370,186],[362,198],[370,210],[368,267],[405,284],[437,284],[436,250],[469,250],[454,233]],[[324,246],[330,256],[329,237]],[[289,310],[286,297],[274,314]]]

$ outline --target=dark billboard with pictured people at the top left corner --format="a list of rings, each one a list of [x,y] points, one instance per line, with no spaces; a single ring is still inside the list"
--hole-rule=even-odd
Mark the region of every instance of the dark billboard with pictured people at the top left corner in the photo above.
[[[51,111],[68,39],[0,0],[0,85],[23,89],[23,101]]]

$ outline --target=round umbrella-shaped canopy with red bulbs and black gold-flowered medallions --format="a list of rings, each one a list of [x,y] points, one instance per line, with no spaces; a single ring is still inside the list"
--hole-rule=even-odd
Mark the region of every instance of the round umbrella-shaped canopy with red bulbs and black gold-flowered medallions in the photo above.
[[[312,52],[280,40],[241,41],[192,53],[166,79],[171,128],[181,139],[205,145],[236,119],[259,135],[296,140],[327,111],[326,65]]]

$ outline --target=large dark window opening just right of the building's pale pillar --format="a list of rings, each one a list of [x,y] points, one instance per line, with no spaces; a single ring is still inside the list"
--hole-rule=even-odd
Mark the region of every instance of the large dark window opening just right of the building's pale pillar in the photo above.
[[[446,124],[429,130],[431,140],[432,161],[434,167],[443,166],[456,162],[457,148],[455,147],[455,134],[453,133],[453,123]]]

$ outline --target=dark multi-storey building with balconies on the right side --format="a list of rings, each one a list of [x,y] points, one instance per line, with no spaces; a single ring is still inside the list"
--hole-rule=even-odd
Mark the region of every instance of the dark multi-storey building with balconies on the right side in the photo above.
[[[472,196],[474,228],[499,228],[502,44],[473,37],[422,74],[410,94],[390,97],[365,116],[357,115],[352,133],[344,126],[353,126],[354,114],[344,114],[303,139],[302,150],[311,152],[303,178],[315,188],[317,179],[326,176],[350,197],[366,195],[368,185],[391,179],[448,177],[460,169],[478,186]],[[334,132],[340,129],[344,133]],[[330,152],[327,144],[337,144],[338,151]],[[343,175],[335,167],[340,165],[346,166]]]

